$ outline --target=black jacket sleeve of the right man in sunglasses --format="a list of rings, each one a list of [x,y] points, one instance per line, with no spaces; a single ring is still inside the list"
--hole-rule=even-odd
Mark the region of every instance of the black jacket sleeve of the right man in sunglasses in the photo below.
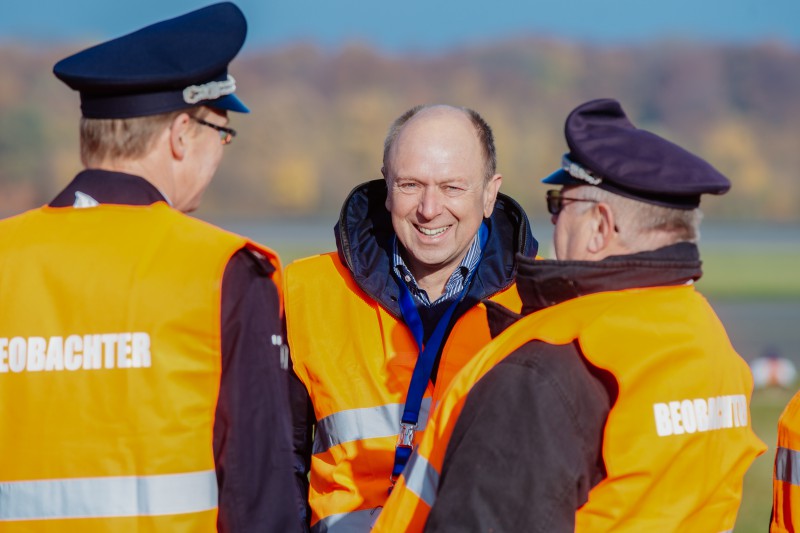
[[[572,532],[604,477],[611,396],[573,345],[532,341],[470,391],[426,532]]]

